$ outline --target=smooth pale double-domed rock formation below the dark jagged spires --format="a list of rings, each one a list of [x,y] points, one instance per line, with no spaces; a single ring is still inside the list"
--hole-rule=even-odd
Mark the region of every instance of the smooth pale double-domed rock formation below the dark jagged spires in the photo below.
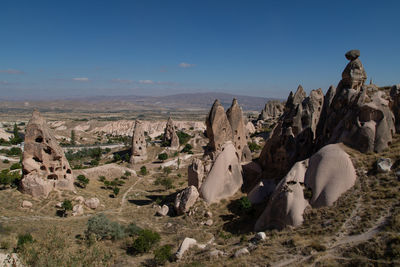
[[[327,145],[310,159],[299,161],[277,185],[255,230],[299,226],[308,205],[331,206],[355,183],[349,156],[338,144]],[[306,195],[311,190],[312,197]]]

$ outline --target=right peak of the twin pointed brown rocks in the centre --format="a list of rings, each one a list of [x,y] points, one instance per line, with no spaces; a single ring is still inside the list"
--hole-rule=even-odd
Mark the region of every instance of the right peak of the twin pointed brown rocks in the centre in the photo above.
[[[233,99],[231,107],[226,111],[226,116],[232,128],[233,144],[240,156],[240,160],[251,161],[251,152],[247,147],[248,136],[243,121],[243,112],[236,98]]]

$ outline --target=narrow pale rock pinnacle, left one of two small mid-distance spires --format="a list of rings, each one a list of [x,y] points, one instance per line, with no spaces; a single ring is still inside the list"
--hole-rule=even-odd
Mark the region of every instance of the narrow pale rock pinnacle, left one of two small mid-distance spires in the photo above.
[[[135,121],[135,127],[132,135],[132,153],[130,162],[132,164],[144,161],[147,159],[147,143],[144,135],[142,122]]]

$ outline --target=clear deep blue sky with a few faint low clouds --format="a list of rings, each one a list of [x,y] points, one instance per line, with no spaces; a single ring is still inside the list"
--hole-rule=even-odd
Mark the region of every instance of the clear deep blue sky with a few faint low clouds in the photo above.
[[[400,82],[400,1],[0,2],[0,98],[282,97],[337,85],[361,50]]]

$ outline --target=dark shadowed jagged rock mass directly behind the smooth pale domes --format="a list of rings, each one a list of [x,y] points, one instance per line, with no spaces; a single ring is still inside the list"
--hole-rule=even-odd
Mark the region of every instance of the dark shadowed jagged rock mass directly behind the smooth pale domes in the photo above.
[[[285,112],[260,155],[265,178],[282,177],[296,161],[311,155],[323,102],[321,89],[312,90],[308,97],[301,86],[290,93]]]

